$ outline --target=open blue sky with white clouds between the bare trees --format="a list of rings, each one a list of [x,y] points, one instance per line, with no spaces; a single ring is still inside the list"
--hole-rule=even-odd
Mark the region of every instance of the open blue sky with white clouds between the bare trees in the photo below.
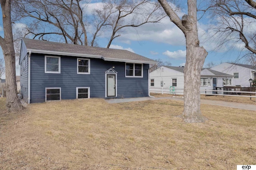
[[[95,3],[88,8],[95,8]],[[179,13],[179,16],[181,17],[183,14],[186,14],[186,3],[183,4],[183,10]],[[208,51],[205,64],[209,62],[220,63],[235,61],[240,55],[242,49],[241,45],[238,44],[234,46],[230,51],[229,49],[232,46],[231,42],[216,49],[219,42],[216,37],[212,36],[212,34],[207,31],[211,25],[209,21],[207,16],[198,21],[200,45],[203,45]],[[3,36],[2,17],[0,18],[0,35]],[[106,47],[108,44],[107,38],[100,38],[98,44],[100,47]],[[186,62],[184,35],[168,18],[164,18],[161,23],[148,23],[140,27],[124,29],[122,35],[114,39],[111,47],[127,49],[154,60],[162,59],[162,61],[172,63],[172,66],[184,66]],[[0,58],[3,58],[2,49],[0,50]],[[19,69],[16,70],[16,74],[20,74]]]

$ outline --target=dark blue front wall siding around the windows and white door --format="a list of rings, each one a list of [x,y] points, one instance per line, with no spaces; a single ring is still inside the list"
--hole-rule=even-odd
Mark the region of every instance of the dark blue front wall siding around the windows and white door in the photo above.
[[[117,97],[148,96],[148,68],[143,66],[143,78],[126,78],[124,62],[90,59],[90,74],[77,74],[77,58],[61,56],[61,73],[44,73],[44,55],[31,55],[31,103],[45,102],[45,88],[60,87],[61,98],[76,99],[76,87],[90,87],[90,98],[105,98],[105,72],[114,66],[117,74]]]

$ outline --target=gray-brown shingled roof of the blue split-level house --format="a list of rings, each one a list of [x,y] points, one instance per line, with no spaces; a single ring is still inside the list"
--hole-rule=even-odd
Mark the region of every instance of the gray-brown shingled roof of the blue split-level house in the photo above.
[[[82,55],[99,55],[108,59],[134,60],[156,63],[156,61],[152,59],[148,59],[147,57],[143,57],[142,55],[138,55],[127,50],[90,47],[84,45],[57,43],[52,41],[42,41],[27,38],[22,38],[22,41],[25,43],[26,48],[31,50],[56,51]]]

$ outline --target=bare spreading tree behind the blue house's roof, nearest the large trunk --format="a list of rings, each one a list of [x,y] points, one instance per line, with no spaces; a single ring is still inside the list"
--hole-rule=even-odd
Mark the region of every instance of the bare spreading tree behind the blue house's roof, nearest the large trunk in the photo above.
[[[116,9],[118,11],[108,21],[112,29],[112,34],[107,48],[110,47],[116,37],[121,35],[122,29],[125,27],[139,27],[145,23],[156,23],[162,20],[166,14],[159,10],[159,8],[159,3],[150,0],[138,0],[134,2],[122,0],[116,3]]]

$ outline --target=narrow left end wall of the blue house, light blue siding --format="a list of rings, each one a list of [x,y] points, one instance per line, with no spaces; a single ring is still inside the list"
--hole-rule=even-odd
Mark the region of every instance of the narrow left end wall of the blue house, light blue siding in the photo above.
[[[20,92],[23,100],[28,102],[28,55],[24,55],[20,65]],[[23,71],[23,63],[25,63],[25,71]]]

